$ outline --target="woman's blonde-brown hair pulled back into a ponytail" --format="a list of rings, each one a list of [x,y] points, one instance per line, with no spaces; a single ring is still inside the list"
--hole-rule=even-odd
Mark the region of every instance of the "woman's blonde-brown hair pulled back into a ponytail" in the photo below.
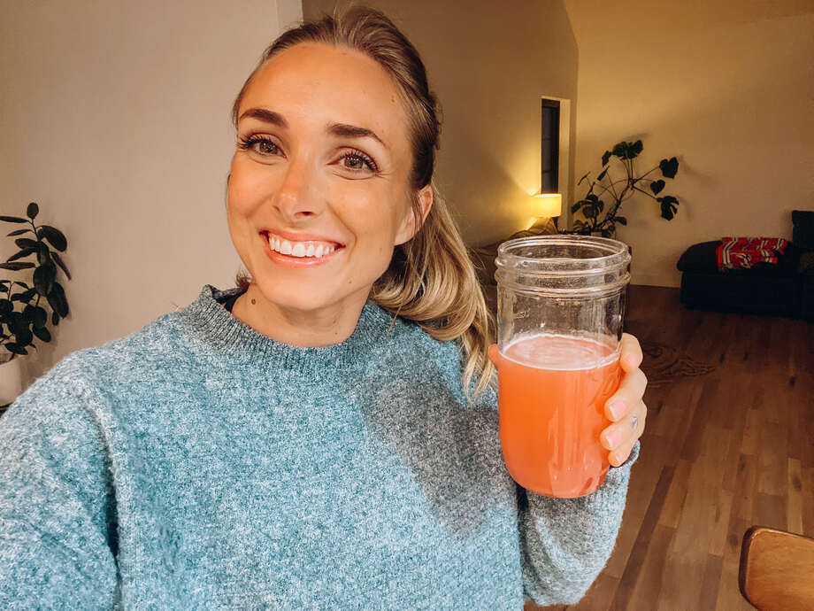
[[[488,359],[495,321],[486,306],[469,251],[433,181],[440,108],[429,90],[419,52],[384,13],[358,5],[335,8],[333,16],[323,15],[322,19],[289,29],[265,50],[234,100],[235,129],[242,98],[257,70],[269,58],[299,43],[325,43],[361,51],[396,82],[413,151],[410,190],[414,219],[421,219],[419,190],[427,184],[433,189],[434,203],[411,240],[395,246],[390,266],[373,283],[370,299],[390,313],[415,321],[435,339],[459,339],[465,351],[464,392],[472,401],[488,385],[495,387],[495,366]],[[240,271],[235,282],[246,289],[250,276]]]

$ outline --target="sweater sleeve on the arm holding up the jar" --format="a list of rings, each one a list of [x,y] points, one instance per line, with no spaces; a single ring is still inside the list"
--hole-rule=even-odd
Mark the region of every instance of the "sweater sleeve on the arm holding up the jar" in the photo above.
[[[574,604],[611,557],[625,510],[628,459],[611,467],[602,485],[577,499],[552,499],[518,486],[518,526],[526,600],[537,605]]]

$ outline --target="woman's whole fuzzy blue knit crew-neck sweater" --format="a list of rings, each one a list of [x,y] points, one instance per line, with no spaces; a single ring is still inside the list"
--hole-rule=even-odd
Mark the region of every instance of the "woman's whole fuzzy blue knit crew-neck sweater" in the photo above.
[[[73,352],[0,419],[0,608],[520,609],[571,603],[630,468],[580,499],[518,487],[457,342],[368,302],[281,344],[205,285]]]

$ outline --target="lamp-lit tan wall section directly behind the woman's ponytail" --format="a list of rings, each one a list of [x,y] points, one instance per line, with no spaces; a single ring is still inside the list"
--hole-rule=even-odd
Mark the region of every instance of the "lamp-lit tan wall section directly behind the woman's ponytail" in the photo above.
[[[465,241],[486,244],[528,227],[528,196],[540,189],[540,98],[576,95],[576,45],[563,3],[365,4],[403,29],[441,100],[435,179]],[[333,7],[334,0],[303,0],[303,15]],[[561,188],[571,183],[572,153],[564,151]]]

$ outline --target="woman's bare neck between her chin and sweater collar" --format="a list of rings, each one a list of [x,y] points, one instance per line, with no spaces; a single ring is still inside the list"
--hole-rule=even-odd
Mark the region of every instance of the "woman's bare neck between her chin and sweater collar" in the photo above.
[[[350,295],[315,310],[299,310],[272,303],[252,282],[234,302],[232,314],[257,333],[282,344],[321,348],[341,344],[353,335],[367,294]]]

